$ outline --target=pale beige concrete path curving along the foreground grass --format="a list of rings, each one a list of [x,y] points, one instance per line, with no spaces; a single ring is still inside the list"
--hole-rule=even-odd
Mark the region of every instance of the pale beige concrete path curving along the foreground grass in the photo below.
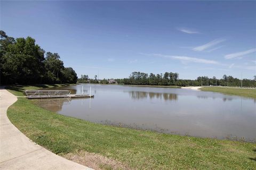
[[[86,169],[86,166],[71,162],[30,141],[9,120],[7,108],[17,97],[0,89],[0,169]]]

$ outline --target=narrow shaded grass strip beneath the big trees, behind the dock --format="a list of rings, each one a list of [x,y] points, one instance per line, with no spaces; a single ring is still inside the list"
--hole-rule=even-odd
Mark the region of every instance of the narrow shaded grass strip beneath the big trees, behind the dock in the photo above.
[[[37,90],[42,88],[70,86],[73,84],[36,84],[36,85],[20,85],[20,86],[6,86],[5,89],[10,91],[15,96],[24,96],[25,90]]]

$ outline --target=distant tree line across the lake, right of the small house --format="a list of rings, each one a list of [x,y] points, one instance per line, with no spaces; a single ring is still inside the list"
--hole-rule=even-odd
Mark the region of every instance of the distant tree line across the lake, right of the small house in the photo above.
[[[153,74],[132,72],[129,78],[115,79],[119,84],[154,85],[154,86],[241,86],[241,79],[231,75],[223,75],[222,79],[207,76],[198,77],[196,80],[179,79],[179,73],[165,72]],[[243,79],[243,87],[256,87],[256,76],[253,80]]]

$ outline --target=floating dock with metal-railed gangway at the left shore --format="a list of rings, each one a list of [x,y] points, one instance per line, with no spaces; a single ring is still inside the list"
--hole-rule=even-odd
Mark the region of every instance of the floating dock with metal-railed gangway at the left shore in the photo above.
[[[29,99],[41,99],[41,98],[87,98],[94,97],[87,94],[71,95],[70,90],[26,90],[25,91]]]

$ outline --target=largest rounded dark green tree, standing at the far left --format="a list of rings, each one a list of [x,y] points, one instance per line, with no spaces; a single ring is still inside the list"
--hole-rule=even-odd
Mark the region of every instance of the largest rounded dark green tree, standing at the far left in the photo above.
[[[3,36],[4,37],[4,36]],[[44,50],[31,37],[17,38],[3,53],[3,76],[9,83],[35,83],[43,71]]]

